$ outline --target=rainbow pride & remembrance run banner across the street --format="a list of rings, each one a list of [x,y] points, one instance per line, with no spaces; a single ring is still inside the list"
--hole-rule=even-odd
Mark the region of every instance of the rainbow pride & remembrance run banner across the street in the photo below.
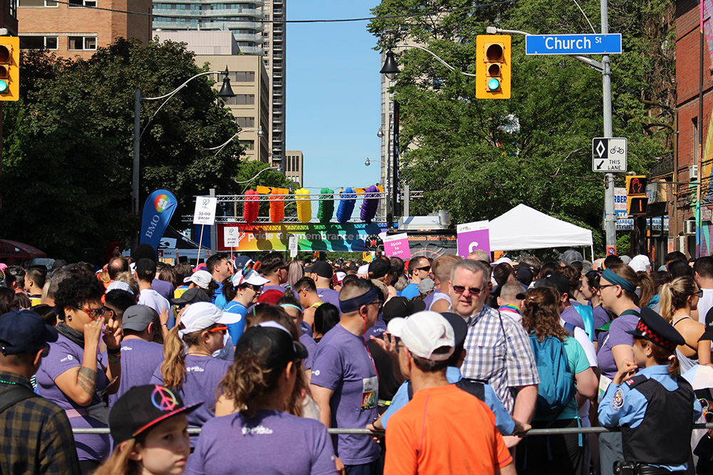
[[[382,232],[386,226],[377,223],[227,223],[217,225],[217,243],[224,252],[287,251],[293,235],[299,251],[364,252],[376,251]],[[225,246],[226,234],[232,247]]]

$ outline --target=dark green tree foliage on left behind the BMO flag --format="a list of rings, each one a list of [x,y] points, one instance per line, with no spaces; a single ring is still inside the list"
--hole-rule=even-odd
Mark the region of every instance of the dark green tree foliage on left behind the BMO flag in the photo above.
[[[88,60],[23,51],[21,63],[21,100],[4,103],[4,237],[55,256],[128,241],[140,222],[130,201],[135,89],[166,95],[210,70],[181,43],[123,39]],[[240,130],[213,83],[202,75],[168,101],[141,100],[140,204],[153,189],[170,189],[178,228],[195,195],[242,192],[239,142],[204,150]]]

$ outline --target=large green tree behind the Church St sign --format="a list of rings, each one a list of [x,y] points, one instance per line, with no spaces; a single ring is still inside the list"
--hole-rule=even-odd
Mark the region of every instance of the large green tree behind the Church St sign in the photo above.
[[[579,4],[600,31],[599,2]],[[629,169],[643,172],[670,143],[674,61],[663,46],[672,35],[671,6],[609,5],[610,31],[623,33],[625,48],[612,55],[614,136],[628,138]],[[425,192],[413,204],[417,213],[446,209],[462,223],[524,203],[601,232],[603,176],[591,171],[592,139],[603,135],[601,73],[568,56],[525,56],[520,35],[513,35],[510,100],[476,99],[474,78],[460,73],[475,73],[476,36],[487,26],[591,33],[574,2],[382,0],[373,13],[377,49],[419,44],[456,69],[416,48],[394,48],[401,177]]]

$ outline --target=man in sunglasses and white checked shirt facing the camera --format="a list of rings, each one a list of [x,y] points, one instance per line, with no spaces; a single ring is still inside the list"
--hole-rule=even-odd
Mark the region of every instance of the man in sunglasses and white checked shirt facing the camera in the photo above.
[[[484,305],[490,277],[490,266],[471,259],[458,261],[451,270],[451,311],[461,315],[468,325],[461,373],[463,377],[488,382],[513,419],[529,424],[540,382],[535,357],[523,326]],[[520,440],[505,437],[508,447]]]

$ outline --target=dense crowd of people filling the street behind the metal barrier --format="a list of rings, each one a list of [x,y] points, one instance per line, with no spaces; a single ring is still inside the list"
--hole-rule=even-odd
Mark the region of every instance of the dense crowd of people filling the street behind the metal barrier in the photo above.
[[[713,473],[712,257],[0,271],[0,473]]]

